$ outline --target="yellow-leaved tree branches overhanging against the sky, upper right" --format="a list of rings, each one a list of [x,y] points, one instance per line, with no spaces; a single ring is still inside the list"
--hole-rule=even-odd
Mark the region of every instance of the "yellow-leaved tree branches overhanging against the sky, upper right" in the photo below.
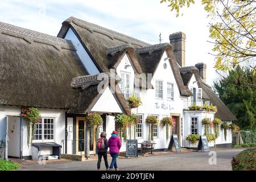
[[[180,9],[194,0],[162,0],[179,16]],[[210,38],[214,40],[212,55],[215,68],[227,71],[247,63],[255,74],[256,64],[256,0],[201,0],[211,17]]]

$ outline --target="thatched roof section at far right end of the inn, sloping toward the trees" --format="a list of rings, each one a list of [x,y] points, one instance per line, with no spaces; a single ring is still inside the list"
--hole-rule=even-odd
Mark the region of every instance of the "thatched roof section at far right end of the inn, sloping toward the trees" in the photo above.
[[[217,106],[216,117],[222,121],[237,121],[237,118],[232,114],[228,107],[222,102],[218,95],[207,85],[199,75],[199,69],[196,67],[183,67],[180,68],[180,73],[185,84],[188,84],[192,75],[195,76],[197,85],[203,90],[203,99],[210,101],[213,105]]]

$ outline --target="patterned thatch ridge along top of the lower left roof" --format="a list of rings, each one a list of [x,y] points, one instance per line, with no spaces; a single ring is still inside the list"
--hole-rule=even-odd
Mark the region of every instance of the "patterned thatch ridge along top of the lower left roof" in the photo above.
[[[75,47],[73,46],[70,40],[44,34],[34,30],[29,30],[27,28],[14,26],[8,23],[0,22],[0,31],[11,32],[13,35],[17,35],[18,37],[19,35],[23,35],[23,36],[26,36],[27,38],[43,40],[44,42],[57,44],[60,47],[69,47],[69,48],[75,49]]]

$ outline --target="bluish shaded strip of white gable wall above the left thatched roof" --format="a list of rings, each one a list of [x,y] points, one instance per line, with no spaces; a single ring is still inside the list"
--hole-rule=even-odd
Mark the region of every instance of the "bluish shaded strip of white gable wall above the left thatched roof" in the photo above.
[[[98,71],[96,65],[93,63],[93,60],[90,58],[88,53],[86,52],[85,48],[82,46],[81,42],[73,32],[71,28],[69,28],[67,34],[65,35],[64,39],[71,40],[73,43],[73,46],[76,48],[76,53],[79,55],[82,63],[84,64],[84,67],[87,69],[90,75],[97,75],[100,73]]]

